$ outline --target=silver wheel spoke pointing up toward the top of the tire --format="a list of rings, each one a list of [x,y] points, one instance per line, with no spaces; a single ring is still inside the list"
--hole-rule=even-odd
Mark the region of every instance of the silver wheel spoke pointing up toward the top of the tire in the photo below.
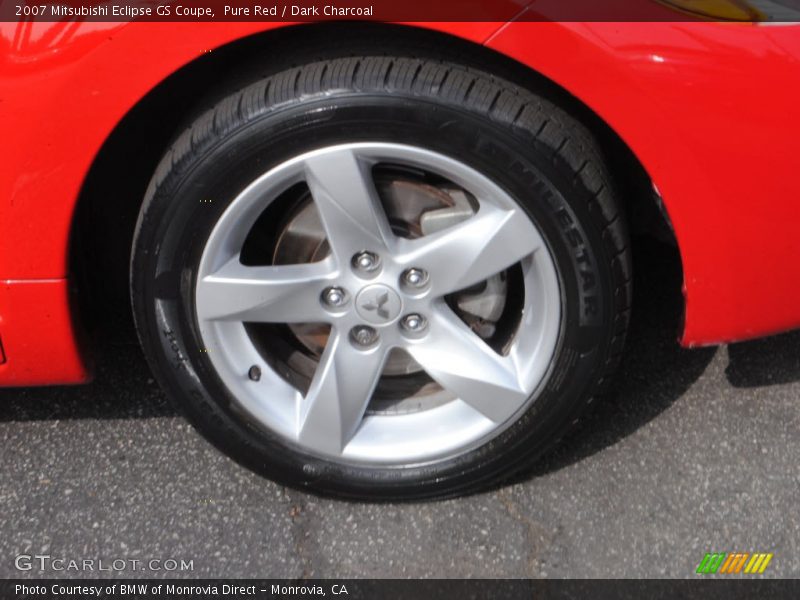
[[[393,236],[369,164],[339,149],[306,159],[305,170],[334,255],[348,261],[361,250],[385,251]]]

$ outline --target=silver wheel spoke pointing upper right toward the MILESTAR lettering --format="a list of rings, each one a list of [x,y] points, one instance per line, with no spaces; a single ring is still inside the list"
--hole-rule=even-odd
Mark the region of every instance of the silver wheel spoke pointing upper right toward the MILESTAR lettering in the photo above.
[[[496,275],[541,245],[526,215],[484,203],[463,223],[415,240],[400,240],[400,252],[403,262],[428,270],[434,294],[442,296]]]

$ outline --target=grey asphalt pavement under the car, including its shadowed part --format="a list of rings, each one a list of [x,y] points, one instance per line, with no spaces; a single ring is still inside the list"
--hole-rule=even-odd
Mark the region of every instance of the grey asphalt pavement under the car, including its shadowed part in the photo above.
[[[0,391],[0,577],[115,574],[16,568],[37,554],[129,577],[695,577],[712,551],[800,577],[800,333],[681,349],[680,273],[647,249],[609,397],[531,472],[466,498],[271,483],[176,414],[130,339],[88,386]],[[142,571],[153,559],[192,570]]]

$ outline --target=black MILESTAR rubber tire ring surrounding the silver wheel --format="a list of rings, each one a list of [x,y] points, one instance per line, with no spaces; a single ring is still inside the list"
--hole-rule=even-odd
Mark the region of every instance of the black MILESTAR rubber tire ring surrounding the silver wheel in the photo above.
[[[536,401],[487,444],[424,466],[339,464],[256,428],[202,352],[192,313],[203,243],[246,184],[320,145],[376,138],[452,155],[507,190],[542,232],[562,286],[560,339]],[[201,197],[215,202],[203,204]],[[325,494],[427,498],[503,480],[577,423],[622,352],[631,262],[612,179],[576,119],[473,68],[362,56],[305,64],[232,92],[175,141],[152,178],[136,227],[131,294],[159,382],[230,456],[277,481]]]

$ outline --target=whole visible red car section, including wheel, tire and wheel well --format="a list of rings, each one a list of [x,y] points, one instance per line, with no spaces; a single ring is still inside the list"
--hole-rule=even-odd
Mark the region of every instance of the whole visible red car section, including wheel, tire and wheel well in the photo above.
[[[507,478],[607,387],[652,218],[682,344],[800,327],[800,28],[713,12],[786,4],[2,23],[0,385],[88,381],[86,307],[123,286],[167,394],[268,477]]]

